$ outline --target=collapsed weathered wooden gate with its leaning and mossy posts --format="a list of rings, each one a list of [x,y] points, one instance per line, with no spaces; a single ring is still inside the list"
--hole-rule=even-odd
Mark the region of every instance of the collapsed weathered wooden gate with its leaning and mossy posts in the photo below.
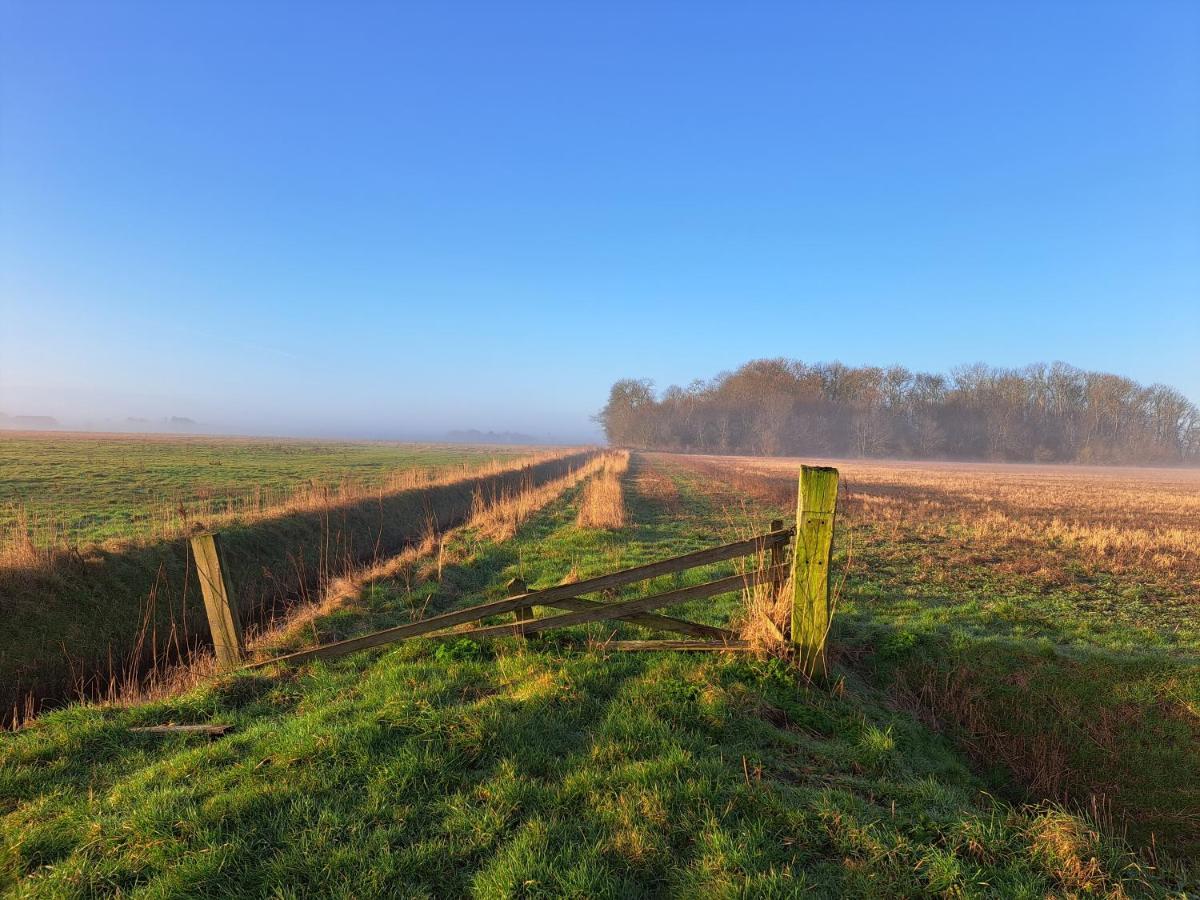
[[[624,569],[594,578],[558,584],[541,590],[529,590],[523,582],[514,580],[509,584],[509,596],[478,604],[462,610],[432,616],[407,625],[374,631],[335,643],[312,647],[283,656],[242,665],[245,647],[238,626],[238,613],[233,587],[222,575],[221,545],[216,535],[197,535],[193,539],[197,565],[205,608],[212,629],[217,660],[222,667],[262,668],[280,664],[296,664],[313,659],[332,659],[371,647],[409,641],[413,638],[469,637],[527,637],[556,628],[582,625],[592,622],[628,622],[655,631],[685,635],[688,640],[611,641],[606,644],[618,650],[746,650],[746,642],[728,629],[706,625],[686,619],[656,613],[672,606],[746,590],[767,584],[778,593],[787,581],[787,548],[791,554],[792,617],[791,634],[785,635],[794,647],[796,658],[808,674],[823,672],[826,667],[824,646],[829,631],[829,560],[833,547],[834,511],[838,500],[838,470],[804,466],[797,500],[794,527],[784,522],[772,522],[770,530],[745,540],[724,544],[719,547],[697,550],[683,556],[661,559],[631,569]],[[611,592],[628,584],[677,575],[712,563],[754,556],[758,565],[742,575],[676,588],[631,600],[604,601],[587,599],[586,594]],[[546,607],[557,612],[534,618],[534,607]],[[512,613],[514,620],[493,625],[476,625],[466,630],[450,630],[468,623]]]

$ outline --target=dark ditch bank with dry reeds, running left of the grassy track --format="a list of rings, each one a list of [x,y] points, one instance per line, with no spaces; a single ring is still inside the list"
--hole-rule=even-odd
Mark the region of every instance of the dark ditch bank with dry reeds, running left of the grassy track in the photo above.
[[[557,479],[586,454],[538,454],[451,467],[395,490],[310,492],[217,526],[247,624],[286,616],[316,592],[380,556],[463,521],[479,504]],[[486,496],[485,496],[486,494]],[[28,565],[0,565],[0,722],[44,702],[109,696],[158,677],[208,642],[186,536],[55,547]]]

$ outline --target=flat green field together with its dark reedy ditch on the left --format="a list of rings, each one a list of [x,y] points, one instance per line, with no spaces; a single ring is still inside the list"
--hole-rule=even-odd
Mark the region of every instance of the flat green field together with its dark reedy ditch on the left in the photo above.
[[[191,529],[221,532],[242,618],[258,625],[497,492],[582,462],[568,451],[80,436],[0,448],[11,454],[0,485],[24,504],[0,540],[0,724],[126,690],[206,643]],[[151,499],[168,486],[185,498],[174,511]],[[72,522],[74,538],[30,528],[38,503],[43,522]],[[102,533],[121,538],[82,536]]]

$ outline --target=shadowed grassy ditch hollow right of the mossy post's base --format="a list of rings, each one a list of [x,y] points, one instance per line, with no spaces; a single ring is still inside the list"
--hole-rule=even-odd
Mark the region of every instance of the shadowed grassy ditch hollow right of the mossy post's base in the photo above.
[[[1200,668],[1189,660],[868,613],[844,614],[832,641],[1013,796],[1064,802],[1136,846],[1200,857]]]

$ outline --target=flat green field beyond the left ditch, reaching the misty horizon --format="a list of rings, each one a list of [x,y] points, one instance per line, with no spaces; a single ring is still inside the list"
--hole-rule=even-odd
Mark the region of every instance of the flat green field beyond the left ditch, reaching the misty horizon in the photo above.
[[[413,469],[478,467],[528,448],[0,431],[0,538],[37,544],[162,536],[193,518],[260,512],[313,484],[386,487]]]

